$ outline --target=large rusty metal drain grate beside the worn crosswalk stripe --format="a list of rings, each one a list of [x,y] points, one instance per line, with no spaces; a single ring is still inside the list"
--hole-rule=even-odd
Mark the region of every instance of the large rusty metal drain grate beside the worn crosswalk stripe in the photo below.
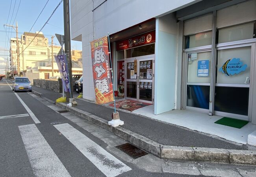
[[[121,144],[119,146],[115,146],[117,149],[120,149],[124,153],[128,154],[130,157],[137,159],[139,157],[142,157],[144,155],[147,155],[145,151],[133,146],[132,144],[126,143]]]

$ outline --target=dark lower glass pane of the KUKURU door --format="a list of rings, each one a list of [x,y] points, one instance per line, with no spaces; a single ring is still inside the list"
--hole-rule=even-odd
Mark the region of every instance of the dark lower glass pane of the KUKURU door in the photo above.
[[[248,115],[249,88],[215,87],[215,111]]]

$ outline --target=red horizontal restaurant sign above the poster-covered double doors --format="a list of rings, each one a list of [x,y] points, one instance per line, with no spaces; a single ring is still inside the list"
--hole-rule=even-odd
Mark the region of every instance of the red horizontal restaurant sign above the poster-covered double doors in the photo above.
[[[142,35],[137,35],[122,41],[116,42],[117,51],[124,50],[128,48],[133,48],[137,46],[142,46],[145,44],[150,44],[156,41],[156,31],[150,31]]]

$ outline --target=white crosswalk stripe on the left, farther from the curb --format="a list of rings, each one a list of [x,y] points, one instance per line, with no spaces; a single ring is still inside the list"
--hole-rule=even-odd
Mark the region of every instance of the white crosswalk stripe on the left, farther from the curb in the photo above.
[[[35,124],[19,126],[19,130],[35,176],[70,177]]]

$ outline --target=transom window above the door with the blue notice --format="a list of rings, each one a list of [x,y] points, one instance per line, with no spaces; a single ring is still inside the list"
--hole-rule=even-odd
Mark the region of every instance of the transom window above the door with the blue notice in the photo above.
[[[197,33],[195,35],[186,36],[185,48],[194,48],[200,46],[211,45],[212,31]]]

